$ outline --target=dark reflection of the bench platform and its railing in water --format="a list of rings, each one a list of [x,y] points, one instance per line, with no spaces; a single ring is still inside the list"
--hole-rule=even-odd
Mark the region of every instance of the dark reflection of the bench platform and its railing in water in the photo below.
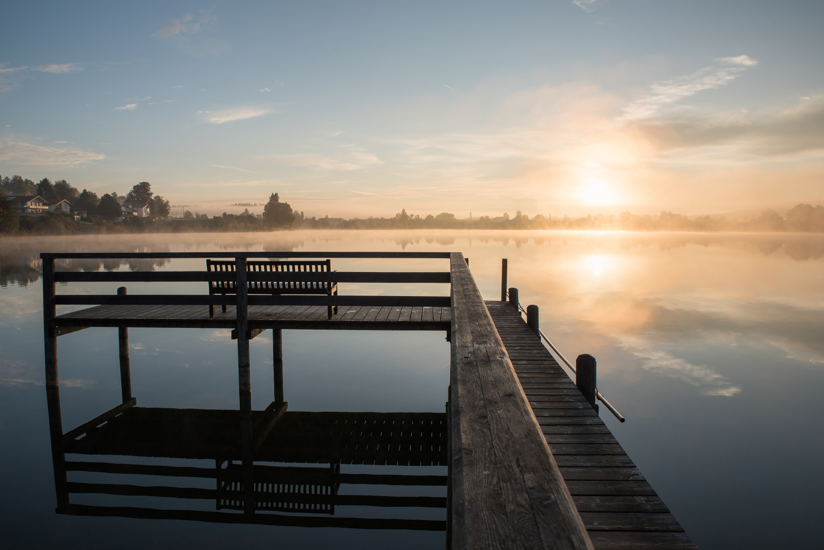
[[[59,400],[59,396],[54,397]],[[446,529],[447,476],[416,475],[414,468],[446,466],[445,413],[286,411],[285,403],[278,407],[273,402],[265,411],[251,411],[251,430],[244,430],[241,411],[134,404],[131,400],[110,411],[107,419],[98,417],[52,438],[53,446],[58,447],[53,452],[59,513],[305,527]],[[244,454],[249,451],[253,460],[245,461]],[[102,455],[105,461],[66,460],[66,454]],[[152,459],[135,463],[133,457]],[[157,458],[170,460],[158,464]],[[175,462],[171,459],[208,459],[207,464],[213,467],[171,465]],[[409,472],[341,473],[341,464],[402,466]],[[118,481],[119,476],[105,474],[125,474],[133,483],[68,481],[68,477]],[[169,477],[176,478],[169,486],[155,484]],[[199,478],[199,482],[192,480],[194,487],[185,487],[185,482],[181,483],[185,478]],[[205,488],[203,478],[215,480],[214,488]],[[373,491],[390,492],[391,496],[359,494],[369,486],[392,486],[389,491],[386,487]],[[442,496],[417,496],[422,492]],[[157,497],[161,504],[164,497],[190,499],[201,501],[190,507],[203,509],[70,502],[70,496],[81,493],[116,495],[118,501],[132,497],[141,505],[146,497]],[[204,501],[212,501],[218,511],[206,510]],[[352,508],[336,510],[340,506]],[[422,514],[421,509],[426,508],[441,510]]]

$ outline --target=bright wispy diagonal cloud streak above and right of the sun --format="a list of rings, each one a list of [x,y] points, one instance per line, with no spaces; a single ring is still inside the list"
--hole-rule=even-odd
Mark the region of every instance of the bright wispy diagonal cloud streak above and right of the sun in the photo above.
[[[704,90],[712,90],[733,82],[741,73],[758,64],[748,55],[724,57],[715,60],[719,65],[709,65],[685,77],[658,82],[650,87],[651,94],[625,106],[619,120],[644,120],[658,115],[668,106],[685,97]]]

